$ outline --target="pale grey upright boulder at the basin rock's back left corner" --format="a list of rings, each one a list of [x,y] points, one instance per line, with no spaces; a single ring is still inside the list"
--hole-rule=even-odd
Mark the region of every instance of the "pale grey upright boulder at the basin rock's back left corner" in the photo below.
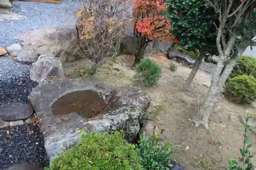
[[[30,79],[41,82],[48,77],[64,78],[64,70],[58,58],[40,55],[38,60],[31,65]]]

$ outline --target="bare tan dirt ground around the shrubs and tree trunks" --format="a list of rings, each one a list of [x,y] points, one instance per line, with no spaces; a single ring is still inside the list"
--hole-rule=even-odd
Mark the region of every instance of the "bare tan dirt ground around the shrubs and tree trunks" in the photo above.
[[[162,77],[154,88],[143,88],[152,98],[150,113],[158,122],[165,135],[177,146],[173,158],[184,164],[187,169],[225,169],[228,159],[239,159],[239,148],[243,144],[244,126],[238,115],[245,115],[245,110],[256,113],[251,106],[238,106],[221,99],[210,115],[209,130],[196,128],[191,118],[207,93],[211,74],[199,70],[191,87],[183,91],[190,68],[178,64],[176,71],[168,66],[171,61],[163,57],[152,57],[153,61],[162,65]],[[96,78],[108,85],[134,87],[135,71],[131,68],[131,56],[119,56],[102,65],[96,72]],[[173,61],[172,61],[173,62]],[[66,66],[68,77],[79,75],[79,69],[89,64],[76,61]],[[76,67],[77,71],[72,72]],[[249,134],[255,154],[256,137]],[[256,165],[256,159],[252,159]]]

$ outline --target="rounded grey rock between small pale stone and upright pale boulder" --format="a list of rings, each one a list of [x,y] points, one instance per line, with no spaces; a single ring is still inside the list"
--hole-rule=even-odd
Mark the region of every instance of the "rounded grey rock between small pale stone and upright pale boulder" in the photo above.
[[[24,46],[22,50],[17,53],[17,60],[22,63],[36,62],[39,54],[34,46]]]

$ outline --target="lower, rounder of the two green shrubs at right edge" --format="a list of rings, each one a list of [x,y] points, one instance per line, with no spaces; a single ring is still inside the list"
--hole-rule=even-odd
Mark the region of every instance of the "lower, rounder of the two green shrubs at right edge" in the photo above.
[[[256,100],[256,79],[247,75],[233,77],[226,82],[224,94],[233,102],[251,103]]]

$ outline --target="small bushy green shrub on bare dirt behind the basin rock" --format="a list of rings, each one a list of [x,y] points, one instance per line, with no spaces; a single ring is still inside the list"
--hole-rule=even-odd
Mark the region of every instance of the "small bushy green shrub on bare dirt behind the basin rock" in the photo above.
[[[161,77],[162,67],[153,63],[151,59],[141,60],[136,69],[136,76],[143,85],[152,87]]]

